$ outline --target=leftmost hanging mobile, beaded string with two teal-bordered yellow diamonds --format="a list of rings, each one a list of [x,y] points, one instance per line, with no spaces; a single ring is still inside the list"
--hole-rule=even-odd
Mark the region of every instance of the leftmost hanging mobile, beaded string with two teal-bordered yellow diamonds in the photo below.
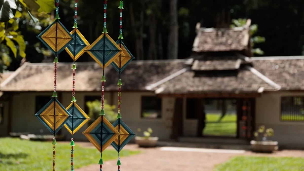
[[[35,116],[43,123],[48,130],[54,134],[53,137],[53,171],[55,171],[55,145],[56,137],[55,134],[63,127],[67,120],[71,117],[71,114],[59,103],[57,100],[57,55],[67,47],[74,38],[67,31],[67,29],[59,21],[59,0],[56,1],[56,16],[55,21],[50,24],[45,30],[43,30],[37,37],[38,39],[45,44],[50,51],[55,54],[54,59],[54,92],[53,98],[45,105]]]

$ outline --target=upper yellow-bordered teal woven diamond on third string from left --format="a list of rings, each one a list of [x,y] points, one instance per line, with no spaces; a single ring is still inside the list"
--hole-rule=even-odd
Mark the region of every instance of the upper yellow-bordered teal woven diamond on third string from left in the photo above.
[[[107,34],[102,33],[100,37],[87,50],[88,54],[105,69],[116,59],[123,50],[116,44],[116,42]]]

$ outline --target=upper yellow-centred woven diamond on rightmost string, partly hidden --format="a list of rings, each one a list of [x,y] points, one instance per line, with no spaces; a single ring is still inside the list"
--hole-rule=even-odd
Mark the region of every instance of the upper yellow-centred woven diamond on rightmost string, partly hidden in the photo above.
[[[117,40],[116,44],[118,44],[118,46],[123,50],[123,52],[120,54],[120,56],[114,59],[111,65],[115,68],[115,70],[118,73],[120,73],[135,57],[131,54],[131,52],[128,50],[128,48],[121,39]]]

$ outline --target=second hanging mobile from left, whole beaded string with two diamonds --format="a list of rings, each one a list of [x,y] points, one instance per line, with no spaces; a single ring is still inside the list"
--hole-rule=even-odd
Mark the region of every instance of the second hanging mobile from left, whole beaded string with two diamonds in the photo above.
[[[75,19],[74,19],[74,30],[71,31],[72,37],[74,37],[74,40],[69,44],[65,50],[67,53],[71,56],[71,58],[74,61],[73,64],[73,92],[72,92],[72,103],[66,108],[66,110],[71,113],[72,117],[67,120],[66,124],[64,124],[64,127],[67,128],[67,130],[71,133],[71,170],[74,170],[74,164],[73,164],[73,153],[74,153],[74,138],[73,135],[76,131],[78,131],[85,123],[88,122],[91,118],[88,117],[88,115],[81,110],[81,108],[76,104],[75,99],[75,70],[76,65],[75,61],[85,52],[85,48],[88,47],[90,44],[85,39],[85,37],[80,33],[77,27],[77,0],[75,0]]]

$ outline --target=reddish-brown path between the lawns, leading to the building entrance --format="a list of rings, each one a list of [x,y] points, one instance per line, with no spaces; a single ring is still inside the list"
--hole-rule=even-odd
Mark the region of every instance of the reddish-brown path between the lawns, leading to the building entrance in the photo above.
[[[78,142],[79,144],[79,142]],[[81,143],[82,146],[92,147],[90,143]],[[92,147],[94,148],[94,147]],[[112,148],[112,147],[109,147]],[[251,155],[251,156],[272,156],[272,157],[304,157],[304,152],[299,150],[284,150],[273,154],[257,154],[253,152],[244,153],[220,153],[220,152],[204,152],[199,150],[181,149],[161,150],[161,148],[137,148],[137,145],[126,145],[124,149],[140,150],[142,153],[121,159],[121,171],[213,171],[214,167],[228,161],[234,156]],[[105,161],[103,170],[117,170],[117,160]],[[99,170],[99,165],[91,165],[77,171]]]

